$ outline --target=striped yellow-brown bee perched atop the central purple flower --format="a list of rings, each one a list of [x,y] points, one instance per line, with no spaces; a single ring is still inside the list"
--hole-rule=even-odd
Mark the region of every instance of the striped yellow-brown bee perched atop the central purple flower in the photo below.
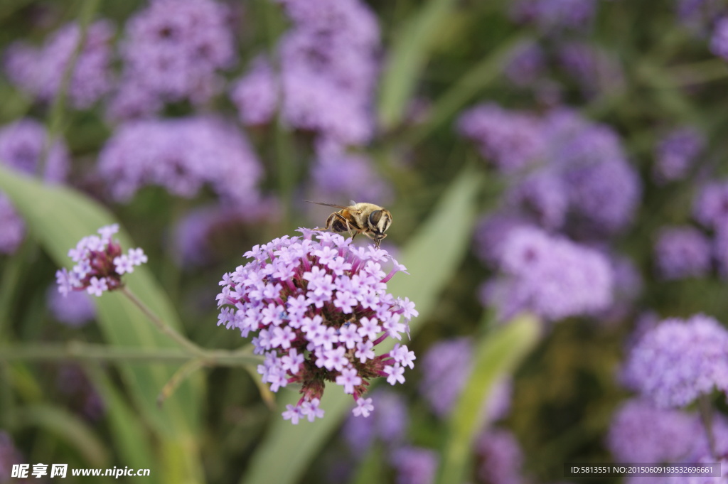
[[[352,239],[357,234],[364,234],[374,241],[376,247],[379,247],[381,239],[387,237],[387,234],[384,232],[389,229],[389,224],[392,223],[392,214],[389,213],[389,210],[384,207],[379,207],[379,205],[374,205],[373,203],[351,202],[352,205],[344,207],[344,205],[312,202],[311,200],[304,200],[304,202],[341,209],[329,215],[326,219],[325,229],[317,230],[349,232]]]

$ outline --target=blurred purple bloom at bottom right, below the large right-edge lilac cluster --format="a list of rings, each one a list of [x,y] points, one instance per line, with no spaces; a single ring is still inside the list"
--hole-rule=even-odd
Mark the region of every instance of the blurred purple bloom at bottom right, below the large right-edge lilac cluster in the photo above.
[[[612,416],[607,443],[617,462],[678,462],[689,456],[700,431],[694,415],[629,400]]]

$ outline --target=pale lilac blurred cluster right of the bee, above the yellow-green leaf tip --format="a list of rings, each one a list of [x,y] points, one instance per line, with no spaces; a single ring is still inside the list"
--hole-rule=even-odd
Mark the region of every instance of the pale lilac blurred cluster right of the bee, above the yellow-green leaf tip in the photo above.
[[[521,311],[561,320],[612,304],[613,274],[605,255],[534,227],[510,231],[499,269],[502,276],[484,296],[502,320]]]

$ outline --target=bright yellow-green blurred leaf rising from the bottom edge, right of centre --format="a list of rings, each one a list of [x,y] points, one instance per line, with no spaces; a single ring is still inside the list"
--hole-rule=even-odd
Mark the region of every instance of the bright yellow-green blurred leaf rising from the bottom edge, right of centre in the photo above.
[[[486,316],[487,318],[488,316]],[[484,336],[475,348],[472,373],[449,422],[449,435],[440,463],[438,483],[465,482],[472,443],[483,429],[483,402],[494,384],[513,373],[539,339],[539,320],[530,314],[515,317]]]

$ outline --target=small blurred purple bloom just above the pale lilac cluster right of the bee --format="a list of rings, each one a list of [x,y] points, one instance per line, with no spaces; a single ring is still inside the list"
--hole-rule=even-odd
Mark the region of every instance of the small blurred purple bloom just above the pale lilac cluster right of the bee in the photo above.
[[[569,194],[561,177],[553,170],[542,170],[527,176],[510,189],[511,205],[529,215],[539,226],[559,229],[566,219]]]

